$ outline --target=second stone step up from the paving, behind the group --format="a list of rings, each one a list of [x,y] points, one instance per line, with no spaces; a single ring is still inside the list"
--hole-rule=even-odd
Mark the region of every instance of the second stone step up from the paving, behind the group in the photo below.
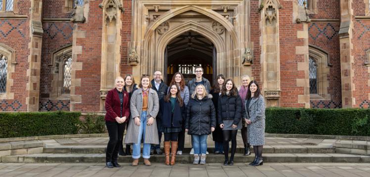
[[[105,153],[106,146],[59,146],[44,147],[44,153],[82,153],[94,154]],[[190,147],[184,148],[184,153],[190,152]],[[208,152],[213,153],[214,147],[208,147]],[[253,148],[252,148],[253,149]],[[251,151],[253,152],[253,150]],[[126,149],[125,149],[126,150]],[[163,149],[162,149],[163,150]],[[264,153],[335,153],[334,147],[304,147],[304,146],[264,146]],[[237,147],[236,153],[244,153],[244,147]]]

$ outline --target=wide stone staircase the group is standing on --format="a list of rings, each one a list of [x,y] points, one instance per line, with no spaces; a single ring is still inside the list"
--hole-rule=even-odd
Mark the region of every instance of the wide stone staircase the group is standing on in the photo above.
[[[0,139],[1,162],[26,163],[95,163],[105,162],[107,134],[57,135]],[[266,134],[263,149],[264,162],[274,163],[336,163],[370,162],[370,137],[315,136]],[[222,163],[224,155],[213,154],[214,142],[208,137],[208,163]],[[163,147],[163,141],[161,144]],[[186,135],[183,155],[177,155],[177,163],[192,163],[190,136]],[[163,150],[163,149],[162,149]],[[251,162],[243,156],[241,135],[237,135],[236,163]],[[230,155],[230,153],[229,153]],[[164,155],[152,155],[151,162],[164,162]],[[131,162],[131,156],[119,156],[119,162]],[[140,158],[142,161],[142,158]]]

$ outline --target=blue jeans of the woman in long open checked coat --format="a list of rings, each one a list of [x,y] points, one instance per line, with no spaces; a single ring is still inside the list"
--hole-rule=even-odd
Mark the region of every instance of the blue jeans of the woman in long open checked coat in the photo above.
[[[138,143],[135,143],[133,145],[133,158],[134,159],[140,158],[141,138],[143,138],[143,142],[145,142],[146,114],[147,114],[146,111],[141,112]],[[145,159],[150,158],[150,144],[149,143],[143,143],[142,157]]]

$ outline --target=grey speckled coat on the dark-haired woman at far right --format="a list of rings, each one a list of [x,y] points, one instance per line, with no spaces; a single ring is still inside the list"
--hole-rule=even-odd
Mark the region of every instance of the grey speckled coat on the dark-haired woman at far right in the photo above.
[[[244,110],[246,109],[244,103]],[[252,121],[248,125],[248,141],[250,145],[264,145],[265,144],[265,99],[260,95],[257,99],[252,98],[249,103],[249,116],[244,111],[244,117]]]

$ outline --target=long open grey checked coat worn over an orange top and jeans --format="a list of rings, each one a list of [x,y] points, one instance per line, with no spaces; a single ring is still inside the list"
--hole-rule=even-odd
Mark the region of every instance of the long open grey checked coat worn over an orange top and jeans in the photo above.
[[[142,110],[142,91],[141,89],[136,90],[130,102],[131,110],[131,120],[129,122],[129,127],[127,129],[125,143],[133,144],[138,143],[139,136],[139,126],[135,125],[134,118],[141,116]],[[149,89],[148,94],[148,110],[147,110],[147,119],[151,117],[156,117],[159,111],[159,101],[158,94],[153,89]],[[146,125],[145,129],[145,142],[149,144],[159,144],[158,140],[158,131],[157,131],[157,121],[154,121],[151,126]]]

